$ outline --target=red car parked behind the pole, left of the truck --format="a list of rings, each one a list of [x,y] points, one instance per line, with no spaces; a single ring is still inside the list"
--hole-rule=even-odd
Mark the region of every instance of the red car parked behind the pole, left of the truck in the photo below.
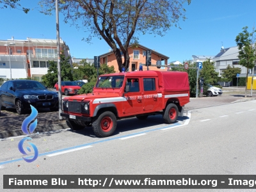
[[[59,90],[58,82],[54,85],[54,88],[57,91]],[[61,92],[66,96],[69,94],[77,95],[80,89],[81,86],[77,85],[77,83],[74,81],[61,81]]]

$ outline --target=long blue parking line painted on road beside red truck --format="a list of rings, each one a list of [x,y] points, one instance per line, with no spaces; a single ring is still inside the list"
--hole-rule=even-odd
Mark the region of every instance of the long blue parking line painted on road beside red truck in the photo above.
[[[108,138],[106,140],[101,140],[101,141],[94,141],[92,143],[86,143],[86,144],[83,144],[83,145],[77,145],[77,146],[74,146],[74,147],[68,147],[68,148],[63,148],[63,149],[59,149],[59,150],[54,150],[52,152],[45,152],[45,153],[42,153],[42,154],[39,154],[38,157],[41,157],[41,156],[47,156],[49,154],[55,154],[57,152],[63,152],[65,150],[71,150],[71,149],[74,149],[74,148],[80,148],[80,147],[85,147],[85,146],[88,146],[88,145],[94,145],[94,144],[97,144],[97,143],[103,143],[103,142],[106,142],[106,141],[112,141],[112,140],[118,140],[120,138],[126,138],[128,136],[134,136],[136,134],[141,134],[141,133],[145,133],[145,132],[152,132],[152,131],[157,131],[159,129],[164,129],[164,128],[169,128],[169,127],[175,127],[177,125],[182,125],[180,123],[175,123],[175,124],[172,124],[172,125],[168,125],[168,126],[165,126],[165,127],[159,127],[159,128],[156,128],[156,129],[150,129],[150,130],[147,130],[147,131],[141,131],[141,132],[135,132],[135,133],[132,133],[132,134],[127,134],[127,135],[124,135],[124,136],[118,136],[118,137],[115,137],[115,138]],[[33,156],[30,156],[30,157],[27,157],[27,159],[31,159],[33,158]],[[3,164],[8,164],[8,163],[13,163],[13,162],[17,162],[17,161],[22,161],[23,159],[22,158],[19,158],[19,159],[13,159],[11,161],[4,161],[4,162],[1,162],[0,163],[0,166],[3,165]]]

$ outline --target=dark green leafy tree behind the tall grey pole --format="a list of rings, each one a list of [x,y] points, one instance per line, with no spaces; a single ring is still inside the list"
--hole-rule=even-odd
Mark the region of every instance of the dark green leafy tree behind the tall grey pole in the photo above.
[[[65,57],[63,51],[60,54],[60,66],[61,66],[61,81],[74,81],[73,68],[69,63],[69,57]],[[56,61],[49,61],[49,68],[47,74],[42,77],[43,83],[48,87],[54,87],[54,84],[58,82],[58,63]]]

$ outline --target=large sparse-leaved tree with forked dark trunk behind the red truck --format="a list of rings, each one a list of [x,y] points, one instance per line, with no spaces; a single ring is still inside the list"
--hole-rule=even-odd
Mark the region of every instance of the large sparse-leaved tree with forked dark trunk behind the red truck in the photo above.
[[[54,2],[41,0],[41,12],[52,15]],[[185,20],[185,2],[190,4],[191,0],[61,0],[59,10],[66,23],[90,31],[84,39],[87,42],[95,36],[103,38],[113,50],[121,72],[122,67],[129,67],[129,45],[138,44],[141,34],[163,36],[173,24],[177,26],[180,18]]]

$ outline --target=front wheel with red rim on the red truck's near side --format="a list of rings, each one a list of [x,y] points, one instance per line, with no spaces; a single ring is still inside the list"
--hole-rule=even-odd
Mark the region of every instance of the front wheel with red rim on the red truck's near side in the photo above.
[[[111,111],[105,111],[92,123],[93,132],[100,138],[111,136],[116,130],[116,116]]]

